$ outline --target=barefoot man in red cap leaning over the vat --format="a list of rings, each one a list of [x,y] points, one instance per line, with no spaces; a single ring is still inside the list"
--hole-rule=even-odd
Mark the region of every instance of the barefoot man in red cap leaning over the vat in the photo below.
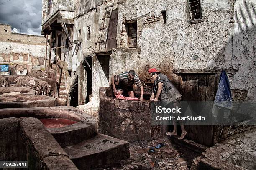
[[[150,100],[153,100],[154,102],[160,100],[164,105],[171,103],[172,106],[179,107],[179,101],[181,100],[182,95],[172,84],[169,78],[155,68],[149,69],[148,73],[150,74],[150,79],[154,81],[153,92]],[[182,133],[179,139],[183,139],[187,134],[183,122],[181,122],[181,129]],[[175,121],[173,121],[173,131],[167,132],[166,135],[177,135],[177,126]]]

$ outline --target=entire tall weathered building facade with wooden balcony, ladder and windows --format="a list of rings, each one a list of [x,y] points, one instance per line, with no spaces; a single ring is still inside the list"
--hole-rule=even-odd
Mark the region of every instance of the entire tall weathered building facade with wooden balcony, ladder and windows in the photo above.
[[[234,97],[255,101],[255,8],[254,0],[43,0],[42,33],[52,32],[54,47],[65,46],[57,53],[77,80],[78,105],[97,106],[99,87],[124,70],[148,81],[151,67],[179,90],[193,71],[218,76],[226,69]],[[110,11],[107,41],[98,49]],[[199,79],[191,81],[213,90],[210,79]]]

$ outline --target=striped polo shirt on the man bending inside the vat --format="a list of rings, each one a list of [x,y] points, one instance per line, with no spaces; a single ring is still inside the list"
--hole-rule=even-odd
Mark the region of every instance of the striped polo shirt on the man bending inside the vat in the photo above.
[[[125,85],[125,86],[132,86],[134,83],[138,86],[138,87],[141,87],[142,84],[141,84],[141,80],[139,79],[138,75],[135,74],[134,76],[134,79],[133,81],[130,81],[128,79],[128,71],[125,71],[125,72],[121,72],[120,74],[118,75],[115,75],[114,77],[114,80],[116,82],[121,82],[122,85]]]

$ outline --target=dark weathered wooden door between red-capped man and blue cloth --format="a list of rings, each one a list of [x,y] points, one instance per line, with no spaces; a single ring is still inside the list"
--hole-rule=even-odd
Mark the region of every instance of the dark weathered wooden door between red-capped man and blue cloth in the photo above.
[[[179,89],[183,101],[214,101],[217,80],[217,74],[182,74]],[[206,146],[213,145],[214,126],[186,126],[185,129],[190,140]]]

